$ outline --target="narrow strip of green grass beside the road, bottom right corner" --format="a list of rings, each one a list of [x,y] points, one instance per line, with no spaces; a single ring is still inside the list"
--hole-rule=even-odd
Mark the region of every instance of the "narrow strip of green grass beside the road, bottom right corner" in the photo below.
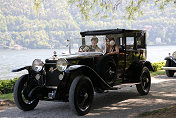
[[[159,113],[165,113],[169,110],[170,109],[168,107],[165,107],[165,108],[162,108],[162,109],[157,109],[157,110],[141,113],[141,114],[139,114],[139,117],[145,117],[145,116],[150,116],[150,115],[156,115],[156,114],[159,114]]]

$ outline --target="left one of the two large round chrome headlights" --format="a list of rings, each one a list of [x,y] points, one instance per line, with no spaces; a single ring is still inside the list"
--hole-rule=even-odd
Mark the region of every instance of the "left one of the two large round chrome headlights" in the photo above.
[[[36,72],[42,70],[44,63],[40,59],[35,59],[32,63],[32,69]]]

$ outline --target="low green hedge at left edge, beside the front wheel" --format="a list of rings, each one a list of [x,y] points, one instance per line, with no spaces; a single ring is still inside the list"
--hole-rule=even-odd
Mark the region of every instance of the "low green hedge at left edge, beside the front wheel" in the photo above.
[[[12,93],[17,78],[10,80],[0,80],[0,94]]]

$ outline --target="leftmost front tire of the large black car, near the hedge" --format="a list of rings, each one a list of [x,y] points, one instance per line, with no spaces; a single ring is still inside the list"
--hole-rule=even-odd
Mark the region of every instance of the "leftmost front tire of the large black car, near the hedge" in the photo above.
[[[23,92],[24,92],[27,80],[28,80],[28,75],[21,76],[15,83],[15,87],[13,91],[15,104],[19,109],[23,111],[33,110],[39,102],[38,99],[27,100],[24,97],[25,95],[23,94]]]

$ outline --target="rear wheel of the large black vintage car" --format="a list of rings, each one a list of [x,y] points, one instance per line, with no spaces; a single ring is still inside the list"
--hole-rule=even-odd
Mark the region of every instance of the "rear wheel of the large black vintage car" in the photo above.
[[[136,85],[137,91],[140,95],[147,95],[151,87],[151,77],[147,67],[143,67],[139,79],[140,84]]]

